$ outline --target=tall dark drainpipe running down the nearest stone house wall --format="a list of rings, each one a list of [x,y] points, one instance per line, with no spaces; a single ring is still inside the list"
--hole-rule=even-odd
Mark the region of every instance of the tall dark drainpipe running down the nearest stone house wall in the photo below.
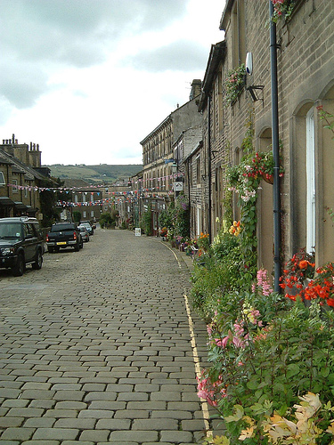
[[[272,20],[273,2],[269,0],[270,64],[272,85],[272,142],[273,142],[273,272],[274,291],[281,293],[281,193],[280,193],[280,142],[277,85],[276,23]]]

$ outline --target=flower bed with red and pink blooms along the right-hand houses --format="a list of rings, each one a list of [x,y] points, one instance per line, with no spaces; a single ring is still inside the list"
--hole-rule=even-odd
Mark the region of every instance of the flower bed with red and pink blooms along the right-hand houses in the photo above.
[[[305,250],[287,263],[281,284],[300,285],[297,291],[311,299],[306,307],[303,295],[273,292],[264,270],[251,287],[243,285],[239,238],[220,236],[192,279],[191,301],[207,320],[211,362],[198,394],[226,428],[225,436],[205,443],[332,444],[334,263],[314,271]]]

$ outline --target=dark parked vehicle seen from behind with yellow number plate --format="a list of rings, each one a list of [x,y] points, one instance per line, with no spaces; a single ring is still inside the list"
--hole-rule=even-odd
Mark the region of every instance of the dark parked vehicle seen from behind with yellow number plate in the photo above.
[[[74,247],[75,251],[84,246],[81,233],[75,223],[54,223],[46,235],[46,246],[50,253],[61,248]]]

